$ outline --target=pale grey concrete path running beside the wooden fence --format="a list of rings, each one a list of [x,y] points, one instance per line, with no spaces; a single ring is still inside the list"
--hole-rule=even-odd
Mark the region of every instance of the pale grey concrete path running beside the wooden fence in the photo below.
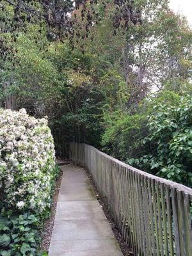
[[[70,164],[61,169],[49,256],[123,256],[86,172]]]

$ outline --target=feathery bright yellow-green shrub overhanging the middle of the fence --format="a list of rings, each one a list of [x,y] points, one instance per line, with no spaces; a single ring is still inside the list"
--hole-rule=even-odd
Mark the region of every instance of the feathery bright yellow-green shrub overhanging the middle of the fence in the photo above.
[[[113,112],[105,116],[106,130],[102,136],[103,150],[125,161],[127,156],[136,157],[143,148],[140,142],[147,134],[145,115]],[[142,153],[140,152],[140,154]]]

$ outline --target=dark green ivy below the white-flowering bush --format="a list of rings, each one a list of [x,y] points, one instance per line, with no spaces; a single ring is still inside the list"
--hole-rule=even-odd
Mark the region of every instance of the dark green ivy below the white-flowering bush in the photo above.
[[[0,218],[0,255],[40,255],[40,220],[30,213]]]

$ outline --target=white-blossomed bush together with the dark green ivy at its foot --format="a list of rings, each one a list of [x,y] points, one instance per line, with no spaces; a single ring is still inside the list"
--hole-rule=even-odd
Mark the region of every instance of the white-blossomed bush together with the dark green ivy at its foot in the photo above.
[[[47,255],[38,250],[58,177],[47,120],[0,109],[0,255]]]

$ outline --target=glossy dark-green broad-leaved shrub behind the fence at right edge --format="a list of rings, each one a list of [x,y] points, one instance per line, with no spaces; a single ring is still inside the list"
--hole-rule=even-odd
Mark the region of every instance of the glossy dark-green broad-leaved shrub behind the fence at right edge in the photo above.
[[[192,100],[180,97],[177,106],[157,104],[148,116],[143,147],[150,154],[127,163],[166,179],[192,186]]]

